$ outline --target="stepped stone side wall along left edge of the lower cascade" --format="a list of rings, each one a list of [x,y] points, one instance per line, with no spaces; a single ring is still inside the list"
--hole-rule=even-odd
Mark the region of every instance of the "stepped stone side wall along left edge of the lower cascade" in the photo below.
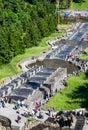
[[[11,93],[16,88],[19,88],[23,83],[27,82],[27,80],[31,77],[33,77],[36,73],[38,73],[43,66],[34,66],[27,72],[21,74],[19,77],[16,79],[12,80],[11,83],[2,86],[0,89],[0,97],[5,97],[8,94]]]

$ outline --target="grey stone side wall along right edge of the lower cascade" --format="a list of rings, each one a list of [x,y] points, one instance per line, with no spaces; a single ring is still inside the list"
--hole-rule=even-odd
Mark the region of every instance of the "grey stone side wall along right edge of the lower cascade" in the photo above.
[[[39,88],[43,93],[44,98],[49,98],[54,95],[60,89],[63,89],[63,85],[60,85],[61,80],[67,77],[66,68],[58,68]]]

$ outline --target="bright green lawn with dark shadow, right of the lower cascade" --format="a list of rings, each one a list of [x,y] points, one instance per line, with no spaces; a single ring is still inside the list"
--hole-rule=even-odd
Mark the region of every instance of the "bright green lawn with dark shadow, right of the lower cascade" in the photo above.
[[[68,86],[52,97],[45,107],[54,107],[56,110],[88,107],[88,72],[70,77],[67,84]]]

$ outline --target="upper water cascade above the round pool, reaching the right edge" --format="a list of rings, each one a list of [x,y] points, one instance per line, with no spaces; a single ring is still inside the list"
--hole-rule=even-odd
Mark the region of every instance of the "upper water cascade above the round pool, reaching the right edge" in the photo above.
[[[66,60],[67,56],[74,53],[77,48],[80,48],[80,51],[83,51],[83,49],[88,46],[88,43],[83,41],[85,39],[85,35],[87,35],[87,31],[88,23],[79,24],[72,35],[67,38],[66,44],[61,43],[57,45],[57,48],[50,52],[45,59]]]

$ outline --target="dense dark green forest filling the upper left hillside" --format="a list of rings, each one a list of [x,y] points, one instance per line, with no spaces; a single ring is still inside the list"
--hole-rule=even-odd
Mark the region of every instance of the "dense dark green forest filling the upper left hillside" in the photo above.
[[[0,0],[0,64],[38,46],[57,26],[56,0]],[[70,0],[60,0],[60,7]]]

